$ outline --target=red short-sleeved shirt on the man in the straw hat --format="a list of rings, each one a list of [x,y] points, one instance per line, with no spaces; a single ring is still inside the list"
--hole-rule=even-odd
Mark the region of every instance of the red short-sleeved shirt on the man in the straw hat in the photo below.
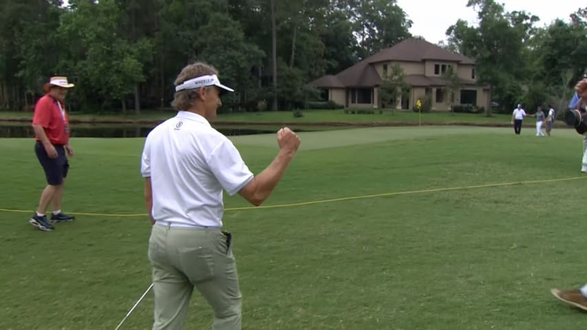
[[[70,140],[70,121],[65,113],[65,105],[49,94],[45,94],[34,104],[32,123],[43,126],[52,144],[67,144]],[[39,137],[34,138],[39,140]]]

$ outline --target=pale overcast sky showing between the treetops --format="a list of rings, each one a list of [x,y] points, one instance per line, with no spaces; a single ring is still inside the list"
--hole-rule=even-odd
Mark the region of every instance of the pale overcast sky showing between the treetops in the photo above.
[[[467,0],[397,0],[398,6],[414,23],[409,32],[414,36],[423,36],[431,43],[446,40],[446,31],[458,19],[476,25],[477,13],[467,7]],[[548,25],[559,18],[570,21],[568,15],[585,5],[579,0],[497,0],[504,3],[506,12],[524,10],[540,17],[536,26]]]

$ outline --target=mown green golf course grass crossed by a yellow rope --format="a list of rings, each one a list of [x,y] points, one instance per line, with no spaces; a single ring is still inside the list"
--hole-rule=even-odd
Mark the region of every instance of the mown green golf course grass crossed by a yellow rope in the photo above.
[[[261,208],[227,197],[243,329],[582,329],[551,287],[587,281],[582,138],[510,128],[300,133]],[[275,136],[233,141],[253,172]],[[143,139],[76,138],[54,232],[28,223],[32,139],[0,139],[0,329],[114,329],[151,283]],[[8,210],[8,211],[7,211]],[[122,329],[150,329],[149,294]],[[211,329],[195,293],[186,329]]]

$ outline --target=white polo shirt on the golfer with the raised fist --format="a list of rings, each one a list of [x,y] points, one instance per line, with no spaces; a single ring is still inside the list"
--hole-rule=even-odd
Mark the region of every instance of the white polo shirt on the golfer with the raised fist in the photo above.
[[[175,227],[222,227],[222,190],[235,195],[253,179],[231,140],[188,111],[147,135],[140,171],[151,177],[153,219]]]

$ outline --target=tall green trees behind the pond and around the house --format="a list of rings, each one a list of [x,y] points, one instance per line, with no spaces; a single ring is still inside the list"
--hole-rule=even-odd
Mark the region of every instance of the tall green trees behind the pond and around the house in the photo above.
[[[457,21],[440,45],[474,58],[493,98],[570,94],[587,66],[587,8],[538,26],[493,0],[467,5],[479,25]],[[395,0],[0,0],[0,109],[30,110],[52,75],[76,84],[76,111],[167,108],[191,61],[237,91],[224,111],[303,107],[319,98],[308,82],[414,37],[411,26]]]

